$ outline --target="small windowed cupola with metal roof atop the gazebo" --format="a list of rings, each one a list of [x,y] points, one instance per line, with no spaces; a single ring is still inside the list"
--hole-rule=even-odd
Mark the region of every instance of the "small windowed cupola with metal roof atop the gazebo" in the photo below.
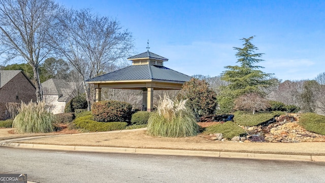
[[[132,65],[164,66],[164,62],[168,61],[168,58],[159,56],[159,55],[152,53],[150,51],[128,57],[127,59],[132,60]]]

